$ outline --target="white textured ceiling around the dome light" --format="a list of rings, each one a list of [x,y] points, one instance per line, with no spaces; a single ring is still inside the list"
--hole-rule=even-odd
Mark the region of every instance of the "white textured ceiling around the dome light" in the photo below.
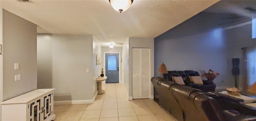
[[[0,0],[0,6],[38,25],[38,33],[94,35],[102,46],[128,37],[155,38],[219,0],[134,0],[122,13],[108,0]]]

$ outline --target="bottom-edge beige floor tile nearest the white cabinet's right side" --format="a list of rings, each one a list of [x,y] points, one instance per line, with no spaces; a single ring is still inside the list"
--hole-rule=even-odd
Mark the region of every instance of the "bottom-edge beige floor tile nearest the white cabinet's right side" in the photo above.
[[[79,120],[83,113],[84,111],[68,111],[67,113],[65,113],[65,115],[63,115],[60,121]]]

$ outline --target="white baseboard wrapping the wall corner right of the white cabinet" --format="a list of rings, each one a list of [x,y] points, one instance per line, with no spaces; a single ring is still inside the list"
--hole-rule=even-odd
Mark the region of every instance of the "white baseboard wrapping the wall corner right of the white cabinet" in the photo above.
[[[93,99],[87,100],[69,100],[69,101],[54,101],[53,105],[74,105],[74,104],[92,104],[98,95],[98,91],[94,95]]]

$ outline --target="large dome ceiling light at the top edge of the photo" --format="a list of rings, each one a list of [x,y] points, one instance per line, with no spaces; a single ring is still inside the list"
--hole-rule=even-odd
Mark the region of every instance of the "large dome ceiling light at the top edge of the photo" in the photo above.
[[[108,0],[114,10],[121,12],[126,11],[132,4],[133,0]]]

